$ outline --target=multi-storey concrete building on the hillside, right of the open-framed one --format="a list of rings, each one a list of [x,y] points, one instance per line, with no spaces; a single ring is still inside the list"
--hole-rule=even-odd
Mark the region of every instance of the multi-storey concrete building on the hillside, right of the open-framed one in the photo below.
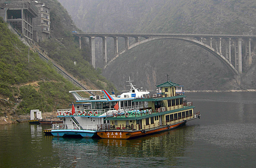
[[[50,37],[50,7],[47,4],[34,1],[38,16],[33,19],[33,35],[36,42],[44,41]]]

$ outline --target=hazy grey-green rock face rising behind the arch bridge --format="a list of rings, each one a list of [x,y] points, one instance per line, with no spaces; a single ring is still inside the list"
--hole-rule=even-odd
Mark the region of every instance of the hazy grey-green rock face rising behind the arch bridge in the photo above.
[[[188,33],[256,35],[255,0],[59,0],[84,32]],[[96,67],[102,67],[102,43],[96,38]],[[124,39],[119,38],[119,50]],[[132,43],[132,41],[131,41]],[[113,39],[107,39],[108,60],[114,56]],[[224,45],[224,44],[223,44]],[[216,57],[188,42],[152,41],[129,50],[103,71],[103,75],[127,90],[132,77],[137,87],[155,90],[167,79],[186,90],[232,90],[256,87],[255,45],[251,44],[253,63],[243,57],[242,84]],[[223,46],[223,49],[225,46]],[[234,62],[234,46],[232,46]]]

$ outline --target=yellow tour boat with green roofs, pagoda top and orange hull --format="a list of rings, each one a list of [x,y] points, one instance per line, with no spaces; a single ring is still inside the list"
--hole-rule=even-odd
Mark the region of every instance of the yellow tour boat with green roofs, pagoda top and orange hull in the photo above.
[[[118,110],[122,113],[113,114],[104,118],[105,123],[98,126],[97,135],[106,139],[130,139],[174,129],[185,125],[192,119],[200,118],[200,112],[194,112],[192,102],[184,100],[183,92],[176,93],[179,84],[167,81],[156,87],[161,88],[161,94],[151,98],[135,98],[130,105],[142,103],[142,107],[122,108],[125,101],[117,101]]]

